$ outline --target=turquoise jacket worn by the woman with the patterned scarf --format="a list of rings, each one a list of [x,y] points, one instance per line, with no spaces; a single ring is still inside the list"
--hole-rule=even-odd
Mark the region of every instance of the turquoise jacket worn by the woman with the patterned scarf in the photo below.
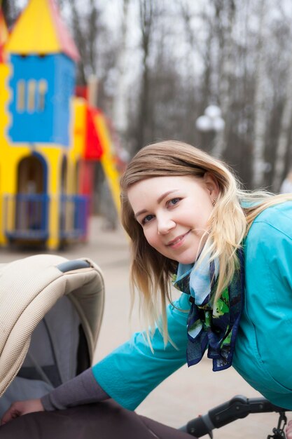
[[[292,202],[256,217],[244,255],[244,311],[232,366],[265,398],[292,409]],[[123,407],[134,410],[186,363],[188,298],[182,293],[175,306],[167,308],[169,336],[176,347],[164,346],[156,330],[152,352],[137,332],[92,367],[98,383]]]

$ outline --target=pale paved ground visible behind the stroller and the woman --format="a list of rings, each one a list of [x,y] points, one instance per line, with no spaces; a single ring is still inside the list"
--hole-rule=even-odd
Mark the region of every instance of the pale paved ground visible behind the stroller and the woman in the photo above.
[[[0,262],[29,256],[32,252],[0,250]],[[106,306],[95,360],[103,358],[124,342],[132,330],[139,328],[137,312],[129,321],[128,241],[122,229],[106,231],[94,217],[90,223],[90,241],[60,252],[64,257],[90,257],[102,268],[106,285]],[[137,371],[136,373],[139,373]],[[179,427],[197,414],[242,394],[260,396],[232,368],[211,371],[211,360],[204,358],[198,365],[182,367],[155,389],[137,412],[170,426]],[[216,439],[265,439],[277,424],[276,414],[251,414],[214,431]],[[205,436],[207,438],[207,436]],[[138,439],[138,438],[137,438]]]

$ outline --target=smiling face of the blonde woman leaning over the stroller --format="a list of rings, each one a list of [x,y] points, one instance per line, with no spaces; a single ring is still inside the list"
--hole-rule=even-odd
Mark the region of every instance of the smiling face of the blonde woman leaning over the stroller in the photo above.
[[[182,264],[195,262],[202,250],[212,202],[218,194],[218,184],[210,173],[202,178],[151,177],[127,191],[148,243]]]

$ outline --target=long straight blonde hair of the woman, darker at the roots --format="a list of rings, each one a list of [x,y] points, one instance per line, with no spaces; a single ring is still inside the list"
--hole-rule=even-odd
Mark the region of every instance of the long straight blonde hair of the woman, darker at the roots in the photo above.
[[[267,207],[292,200],[287,194],[275,196],[265,191],[242,190],[225,163],[183,142],[167,140],[150,144],[132,158],[120,182],[122,223],[132,245],[132,302],[137,289],[146,323],[152,328],[158,325],[165,343],[168,340],[166,304],[171,302],[169,279],[176,272],[177,262],[162,256],[148,244],[141,225],[134,218],[127,189],[151,177],[192,175],[202,178],[207,172],[215,177],[220,189],[209,217],[207,239],[202,250],[202,257],[211,255],[211,259],[218,257],[219,260],[215,303],[234,276],[238,267],[237,249],[241,247],[253,219]]]

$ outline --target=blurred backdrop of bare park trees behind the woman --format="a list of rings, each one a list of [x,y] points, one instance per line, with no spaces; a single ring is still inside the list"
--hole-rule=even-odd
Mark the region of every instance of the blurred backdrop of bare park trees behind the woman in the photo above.
[[[12,25],[26,0],[4,0]],[[286,0],[57,0],[81,54],[77,83],[127,151],[177,139],[223,156],[247,188],[278,191],[291,166],[292,5]],[[196,120],[216,104],[223,131]],[[216,137],[216,139],[214,139]]]

